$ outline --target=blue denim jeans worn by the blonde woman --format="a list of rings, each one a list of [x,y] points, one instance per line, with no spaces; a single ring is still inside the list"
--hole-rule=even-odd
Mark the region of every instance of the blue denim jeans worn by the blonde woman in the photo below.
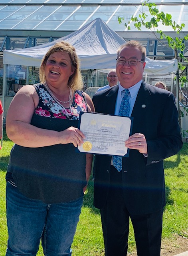
[[[7,182],[6,256],[36,256],[41,238],[45,256],[71,256],[82,204],[83,197],[67,203],[44,204],[25,197]]]

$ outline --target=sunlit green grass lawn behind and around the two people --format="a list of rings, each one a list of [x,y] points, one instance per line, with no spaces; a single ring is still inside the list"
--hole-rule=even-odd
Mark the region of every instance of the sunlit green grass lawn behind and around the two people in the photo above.
[[[0,256],[7,246],[5,174],[13,143],[4,134],[0,150]],[[164,209],[162,240],[172,242],[174,234],[188,238],[188,143],[182,150],[164,161],[166,207]],[[72,245],[73,256],[104,256],[104,244],[99,210],[93,206],[93,181],[84,196],[80,221]],[[135,251],[133,227],[130,224],[129,253]],[[43,256],[42,248],[37,254]]]

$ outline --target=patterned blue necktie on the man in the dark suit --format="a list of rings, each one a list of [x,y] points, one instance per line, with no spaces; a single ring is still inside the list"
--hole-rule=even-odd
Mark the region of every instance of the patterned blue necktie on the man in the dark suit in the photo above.
[[[125,95],[121,101],[119,108],[119,116],[129,116],[130,104],[129,104],[129,90],[125,89]],[[122,170],[122,156],[113,156],[113,166],[121,172]]]

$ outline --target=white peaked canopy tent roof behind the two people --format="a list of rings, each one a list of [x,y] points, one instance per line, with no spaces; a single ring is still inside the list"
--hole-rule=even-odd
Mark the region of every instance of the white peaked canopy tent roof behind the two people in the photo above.
[[[125,43],[125,40],[111,30],[101,18],[96,18],[79,30],[47,44],[21,50],[4,50],[3,64],[39,67],[47,50],[61,40],[75,47],[83,69],[115,68],[117,49]],[[145,73],[174,73],[176,70],[175,59],[151,60],[146,58]]]

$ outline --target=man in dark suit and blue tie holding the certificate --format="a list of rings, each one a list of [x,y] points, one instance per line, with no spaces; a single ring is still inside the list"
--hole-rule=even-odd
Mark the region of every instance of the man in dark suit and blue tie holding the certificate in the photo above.
[[[96,112],[118,115],[126,94],[124,108],[134,118],[133,135],[125,142],[129,157],[121,158],[121,170],[116,157],[95,157],[94,205],[101,211],[105,256],[127,255],[129,217],[137,255],[160,256],[163,159],[182,148],[174,96],[142,80],[145,58],[146,49],[139,42],[122,45],[117,52],[119,84],[93,97]]]

